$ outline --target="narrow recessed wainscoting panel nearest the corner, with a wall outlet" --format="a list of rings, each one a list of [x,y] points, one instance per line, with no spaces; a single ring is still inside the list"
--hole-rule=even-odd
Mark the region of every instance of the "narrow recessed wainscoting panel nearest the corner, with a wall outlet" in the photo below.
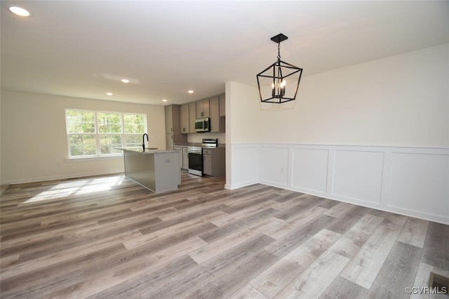
[[[288,187],[288,147],[260,147],[260,182]]]

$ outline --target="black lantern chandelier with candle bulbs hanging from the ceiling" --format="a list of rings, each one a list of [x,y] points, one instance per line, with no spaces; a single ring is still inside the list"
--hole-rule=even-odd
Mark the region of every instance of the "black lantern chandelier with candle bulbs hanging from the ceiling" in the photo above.
[[[278,60],[256,76],[261,102],[281,104],[296,98],[302,69],[281,60],[281,41],[286,39],[288,37],[283,34],[272,37],[278,44]]]

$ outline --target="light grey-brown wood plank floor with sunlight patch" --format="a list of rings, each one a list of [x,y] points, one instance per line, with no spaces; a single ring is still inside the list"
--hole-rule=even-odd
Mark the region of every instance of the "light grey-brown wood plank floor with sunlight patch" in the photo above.
[[[410,298],[430,271],[449,277],[448,225],[224,184],[182,173],[163,194],[123,175],[9,186],[1,298]]]

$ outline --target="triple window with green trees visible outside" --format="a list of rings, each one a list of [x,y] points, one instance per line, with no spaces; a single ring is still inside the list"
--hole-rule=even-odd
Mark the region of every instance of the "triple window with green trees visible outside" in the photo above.
[[[147,127],[145,114],[65,110],[69,157],[121,154],[116,147],[139,147]]]

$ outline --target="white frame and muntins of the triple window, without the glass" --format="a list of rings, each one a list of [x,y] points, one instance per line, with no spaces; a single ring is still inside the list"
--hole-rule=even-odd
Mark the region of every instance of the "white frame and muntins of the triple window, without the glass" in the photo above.
[[[76,111],[76,112],[92,112],[94,115],[94,133],[86,133],[86,134],[93,134],[95,135],[95,154],[92,155],[79,155],[79,156],[71,156],[70,154],[70,135],[76,135],[76,133],[69,133],[67,132],[68,123],[67,123],[67,111]],[[114,114],[120,114],[120,121],[121,121],[121,147],[126,147],[126,135],[133,135],[133,134],[126,134],[125,133],[125,126],[124,126],[124,114],[135,114],[135,115],[142,115],[143,121],[144,121],[144,131],[145,133],[148,131],[147,127],[147,114],[144,113],[135,113],[135,112],[114,112],[114,111],[102,111],[102,110],[89,110],[89,109],[65,109],[65,133],[67,138],[67,157],[68,159],[94,159],[94,158],[107,158],[107,157],[121,157],[121,153],[116,154],[102,154],[101,153],[101,145],[100,145],[100,136],[101,135],[107,135],[107,133],[99,133],[98,132],[98,113],[114,113]],[[78,133],[79,134],[79,133]],[[112,134],[112,133],[111,133]],[[140,133],[139,133],[140,134]],[[112,134],[114,135],[114,134]]]

